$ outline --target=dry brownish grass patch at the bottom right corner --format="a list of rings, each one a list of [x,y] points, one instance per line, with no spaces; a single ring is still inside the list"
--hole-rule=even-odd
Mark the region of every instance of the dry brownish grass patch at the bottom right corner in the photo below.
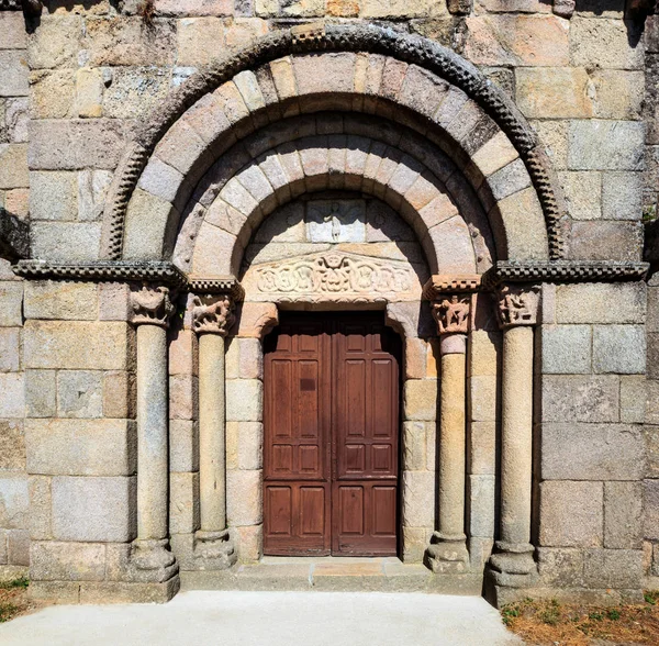
[[[534,646],[659,644],[659,591],[646,591],[637,605],[600,608],[556,599],[524,599],[501,609],[503,623]]]

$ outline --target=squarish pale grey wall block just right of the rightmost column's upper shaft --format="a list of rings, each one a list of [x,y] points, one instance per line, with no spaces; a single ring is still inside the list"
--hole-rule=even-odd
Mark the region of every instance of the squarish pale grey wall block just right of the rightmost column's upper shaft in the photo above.
[[[589,325],[544,325],[543,372],[554,375],[591,371],[592,333]]]

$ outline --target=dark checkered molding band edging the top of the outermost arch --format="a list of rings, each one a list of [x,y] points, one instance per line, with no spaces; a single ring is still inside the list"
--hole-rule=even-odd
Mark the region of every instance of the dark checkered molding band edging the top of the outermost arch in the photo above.
[[[109,258],[121,258],[125,214],[133,191],[156,145],[186,110],[241,71],[289,54],[320,52],[366,52],[398,58],[436,74],[470,97],[517,149],[543,209],[550,258],[563,257],[561,220],[565,210],[557,197],[549,160],[535,132],[509,97],[455,52],[421,36],[377,25],[315,24],[271,33],[253,45],[228,53],[190,77],[168,97],[130,144],[118,168],[114,193],[105,209]]]

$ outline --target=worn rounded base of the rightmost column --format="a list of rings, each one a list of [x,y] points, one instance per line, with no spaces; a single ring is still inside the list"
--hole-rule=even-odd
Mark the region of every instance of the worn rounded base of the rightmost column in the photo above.
[[[522,590],[537,586],[538,566],[533,545],[499,541],[495,549],[485,568],[485,599],[501,608],[523,598]]]

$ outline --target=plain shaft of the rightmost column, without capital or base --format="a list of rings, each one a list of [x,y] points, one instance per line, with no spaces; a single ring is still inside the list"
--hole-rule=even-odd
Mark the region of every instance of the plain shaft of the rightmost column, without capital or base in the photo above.
[[[533,327],[503,332],[501,542],[530,543]]]

